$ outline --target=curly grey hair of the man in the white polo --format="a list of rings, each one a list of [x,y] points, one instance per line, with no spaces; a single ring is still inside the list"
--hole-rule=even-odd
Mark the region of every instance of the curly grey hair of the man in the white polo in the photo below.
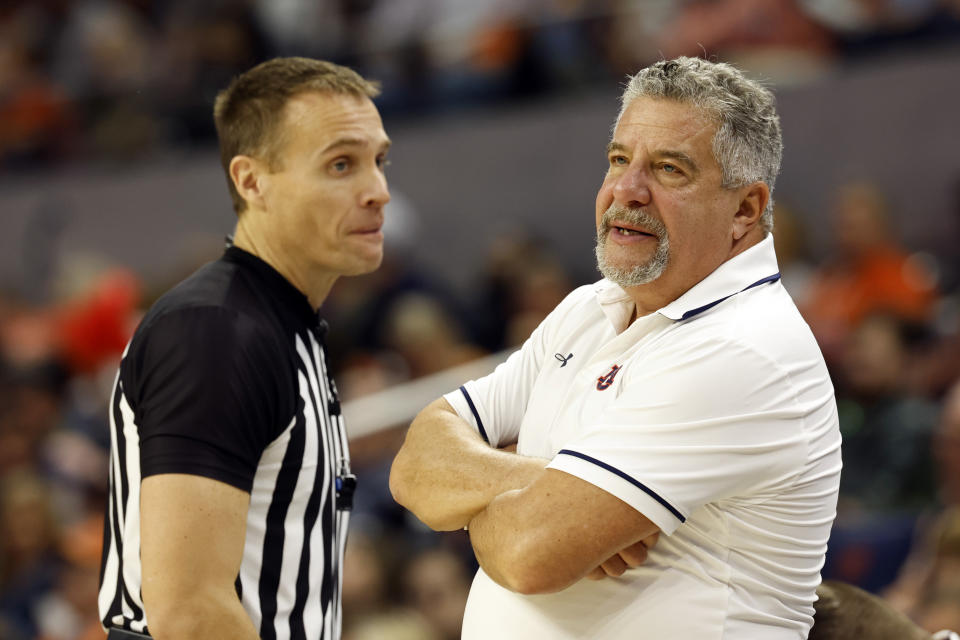
[[[770,200],[760,225],[764,234],[772,231],[773,185],[783,155],[773,94],[732,65],[680,57],[656,62],[630,78],[620,99],[618,124],[639,97],[689,103],[716,121],[713,155],[723,174],[723,188],[766,183]]]

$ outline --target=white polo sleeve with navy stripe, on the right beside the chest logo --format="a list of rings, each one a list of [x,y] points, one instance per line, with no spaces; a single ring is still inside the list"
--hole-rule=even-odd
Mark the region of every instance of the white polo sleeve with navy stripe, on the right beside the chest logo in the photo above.
[[[633,367],[623,384],[548,467],[617,496],[668,535],[709,502],[762,500],[802,469],[809,408],[787,373],[748,347],[672,346],[668,367]]]

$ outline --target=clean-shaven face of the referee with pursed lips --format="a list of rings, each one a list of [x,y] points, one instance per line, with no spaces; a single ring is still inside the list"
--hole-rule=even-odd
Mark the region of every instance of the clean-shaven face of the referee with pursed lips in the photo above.
[[[383,259],[390,139],[368,98],[305,93],[285,108],[265,176],[268,234],[296,280],[373,271]]]

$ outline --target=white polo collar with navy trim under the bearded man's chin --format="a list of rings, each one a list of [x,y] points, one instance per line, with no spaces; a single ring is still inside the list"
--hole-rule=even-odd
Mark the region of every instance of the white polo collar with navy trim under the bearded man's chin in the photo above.
[[[731,296],[779,279],[773,234],[768,233],[766,238],[721,264],[657,313],[671,320],[688,320]],[[614,326],[629,322],[633,300],[622,287],[604,279],[594,285],[594,290],[604,314]],[[627,317],[621,318],[625,313]]]

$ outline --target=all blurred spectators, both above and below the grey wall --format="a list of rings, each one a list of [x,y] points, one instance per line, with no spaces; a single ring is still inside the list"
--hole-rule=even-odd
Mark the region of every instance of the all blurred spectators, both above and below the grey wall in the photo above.
[[[609,87],[661,56],[802,74],[958,35],[956,0],[6,2],[0,168],[208,145],[214,93],[272,55],[353,65],[382,81],[385,113],[417,117]],[[812,258],[805,212],[779,203],[775,230],[844,438],[824,576],[931,631],[960,629],[960,264],[904,246],[877,185],[844,185],[832,203],[826,260]],[[466,297],[388,244],[384,266],[341,280],[322,310],[344,400],[521,344],[581,279],[551,246],[512,235],[489,247]],[[52,300],[0,292],[0,640],[103,637],[109,393],[167,284],[110,268],[69,274]],[[403,428],[351,443],[347,640],[459,638],[469,541],[427,531],[390,498]]]

